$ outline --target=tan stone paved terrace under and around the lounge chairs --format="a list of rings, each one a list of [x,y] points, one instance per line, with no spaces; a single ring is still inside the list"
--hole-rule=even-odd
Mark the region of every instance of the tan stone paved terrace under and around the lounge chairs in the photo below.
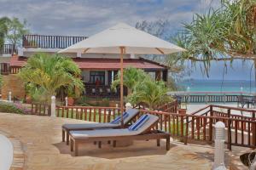
[[[74,157],[61,142],[61,125],[79,122],[84,121],[0,113],[0,133],[20,140],[25,155],[23,169],[211,169],[212,147],[172,143],[171,150],[166,151],[165,141],[157,147],[154,140],[123,148],[103,144],[98,149],[94,144],[84,144],[80,156]]]

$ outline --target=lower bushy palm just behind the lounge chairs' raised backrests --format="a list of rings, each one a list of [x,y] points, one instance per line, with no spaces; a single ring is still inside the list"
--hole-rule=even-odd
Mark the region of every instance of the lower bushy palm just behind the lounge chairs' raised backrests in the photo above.
[[[167,92],[165,82],[155,82],[148,77],[135,85],[133,93],[128,95],[127,99],[132,105],[143,104],[147,105],[150,110],[154,110],[158,106],[172,101]]]

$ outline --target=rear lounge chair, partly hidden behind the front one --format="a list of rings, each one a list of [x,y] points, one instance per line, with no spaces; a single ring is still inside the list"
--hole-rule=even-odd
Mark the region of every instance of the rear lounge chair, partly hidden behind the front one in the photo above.
[[[129,109],[125,111],[128,116],[124,116],[124,125],[127,125],[138,115],[139,111],[137,109]],[[79,131],[79,130],[93,130],[97,128],[119,128],[121,127],[120,116],[116,117],[113,122],[108,123],[80,123],[80,124],[63,124],[62,125],[62,141],[65,142],[66,133],[66,143],[69,144],[69,131]]]

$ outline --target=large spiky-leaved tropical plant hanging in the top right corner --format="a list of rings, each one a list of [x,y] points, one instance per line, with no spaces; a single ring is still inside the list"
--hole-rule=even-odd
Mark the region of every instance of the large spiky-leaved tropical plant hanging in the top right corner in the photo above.
[[[218,9],[195,14],[183,25],[177,45],[188,51],[179,59],[202,62],[205,71],[211,60],[256,59],[256,0],[222,0]]]

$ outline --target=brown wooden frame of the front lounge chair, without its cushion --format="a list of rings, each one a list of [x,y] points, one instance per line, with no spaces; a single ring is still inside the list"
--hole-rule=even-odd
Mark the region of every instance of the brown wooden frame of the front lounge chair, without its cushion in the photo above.
[[[145,130],[144,133],[138,134],[138,135],[127,135],[127,136],[109,136],[109,137],[93,137],[93,138],[83,138],[83,137],[73,137],[72,134],[70,134],[70,150],[74,151],[74,156],[79,156],[79,144],[82,144],[84,142],[95,142],[99,141],[99,148],[101,148],[102,142],[106,141],[113,141],[113,147],[116,146],[117,140],[149,140],[149,139],[156,139],[157,146],[160,146],[160,139],[166,139],[166,150],[170,150],[170,133],[166,133],[160,130],[151,130],[155,127],[155,125],[158,123],[154,122],[154,124],[150,127],[148,127],[147,130]]]

